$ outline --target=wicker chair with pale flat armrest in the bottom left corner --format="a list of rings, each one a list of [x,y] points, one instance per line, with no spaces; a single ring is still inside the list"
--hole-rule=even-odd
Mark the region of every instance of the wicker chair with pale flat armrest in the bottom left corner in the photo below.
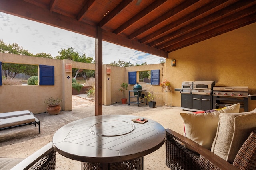
[[[13,167],[12,162],[15,162],[16,158],[4,158],[10,163],[6,164],[4,169],[10,169]],[[4,161],[4,160],[3,160]],[[16,164],[11,170],[55,170],[56,163],[56,151],[52,147],[52,142],[48,143],[41,149],[34,152],[28,158],[23,159],[20,163]]]

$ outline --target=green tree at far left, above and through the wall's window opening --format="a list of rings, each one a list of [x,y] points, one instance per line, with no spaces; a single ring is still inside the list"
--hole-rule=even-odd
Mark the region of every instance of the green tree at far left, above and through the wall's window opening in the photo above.
[[[17,43],[6,44],[3,40],[0,40],[0,52],[33,56],[32,53],[28,50],[24,50]],[[38,66],[34,65],[2,63],[2,70],[7,79],[13,79],[19,73],[29,76],[36,76],[38,74]]]

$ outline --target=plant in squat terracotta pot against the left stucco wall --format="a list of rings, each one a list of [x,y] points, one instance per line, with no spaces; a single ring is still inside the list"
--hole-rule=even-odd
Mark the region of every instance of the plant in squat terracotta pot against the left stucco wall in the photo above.
[[[61,98],[53,98],[50,97],[46,100],[44,100],[44,104],[47,104],[47,112],[50,115],[57,115],[60,113],[61,107],[60,107],[60,103],[62,102]]]

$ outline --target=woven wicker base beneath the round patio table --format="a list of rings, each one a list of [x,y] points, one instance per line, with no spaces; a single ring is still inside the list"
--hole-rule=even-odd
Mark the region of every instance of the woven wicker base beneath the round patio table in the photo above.
[[[143,170],[143,156],[133,160],[115,163],[81,162],[82,170]]]

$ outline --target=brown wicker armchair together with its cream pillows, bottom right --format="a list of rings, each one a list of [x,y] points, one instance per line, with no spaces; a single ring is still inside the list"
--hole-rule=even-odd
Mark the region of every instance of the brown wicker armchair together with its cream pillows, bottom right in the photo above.
[[[256,170],[256,109],[243,113],[232,111],[234,106],[226,112],[180,113],[186,136],[166,129],[166,166],[172,170]],[[192,121],[188,122],[186,116]],[[191,129],[186,131],[189,123],[191,134],[188,133]],[[204,139],[193,136],[196,134],[193,126],[207,132],[203,134]],[[204,140],[211,133],[215,135],[209,149]]]

